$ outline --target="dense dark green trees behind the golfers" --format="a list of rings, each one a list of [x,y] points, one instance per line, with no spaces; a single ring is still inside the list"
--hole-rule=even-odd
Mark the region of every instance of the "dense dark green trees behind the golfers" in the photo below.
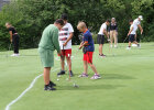
[[[6,22],[15,26],[20,34],[22,48],[37,47],[45,26],[67,13],[75,29],[73,44],[78,44],[78,21],[85,21],[95,34],[101,24],[111,18],[118,22],[119,42],[122,42],[129,31],[129,20],[143,15],[142,26],[144,42],[154,41],[154,2],[153,0],[11,0],[0,11],[0,48],[7,48],[9,32]],[[141,36],[138,33],[138,36]]]

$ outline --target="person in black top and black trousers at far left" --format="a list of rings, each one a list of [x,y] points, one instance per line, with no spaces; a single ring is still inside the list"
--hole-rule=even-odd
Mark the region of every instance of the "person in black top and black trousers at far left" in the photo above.
[[[20,54],[19,54],[20,36],[19,36],[15,28],[12,26],[10,23],[6,23],[6,28],[9,30],[10,42],[13,44],[13,47],[14,47],[14,53],[11,56],[20,56]]]

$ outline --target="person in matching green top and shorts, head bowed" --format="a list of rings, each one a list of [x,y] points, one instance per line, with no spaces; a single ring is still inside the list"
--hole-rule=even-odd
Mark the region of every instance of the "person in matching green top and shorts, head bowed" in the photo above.
[[[43,31],[41,42],[38,44],[38,53],[44,67],[44,90],[56,90],[56,86],[50,79],[51,68],[54,66],[54,51],[56,50],[61,55],[61,48],[58,43],[58,30],[64,25],[64,21],[58,19],[54,24],[50,24]]]

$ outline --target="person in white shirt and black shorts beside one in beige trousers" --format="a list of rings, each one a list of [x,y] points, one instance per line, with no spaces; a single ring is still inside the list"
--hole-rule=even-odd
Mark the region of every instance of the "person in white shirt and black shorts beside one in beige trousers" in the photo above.
[[[110,24],[110,20],[107,20],[100,28],[100,31],[98,33],[98,37],[97,37],[97,41],[98,41],[98,44],[99,44],[99,56],[100,57],[106,57],[105,54],[102,54],[102,46],[105,44],[105,35],[108,37],[108,42],[110,42],[109,40],[109,34],[107,32],[107,26]]]

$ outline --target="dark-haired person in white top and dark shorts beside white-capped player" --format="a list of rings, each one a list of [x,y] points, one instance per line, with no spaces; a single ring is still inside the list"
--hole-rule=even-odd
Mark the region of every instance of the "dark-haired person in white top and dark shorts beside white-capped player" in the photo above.
[[[133,20],[130,20],[130,31],[128,33],[129,36],[129,46],[127,47],[127,50],[131,50],[131,43],[134,43],[138,45],[138,47],[140,47],[140,44],[135,41],[135,34],[136,34],[136,30],[138,26],[133,23]]]

